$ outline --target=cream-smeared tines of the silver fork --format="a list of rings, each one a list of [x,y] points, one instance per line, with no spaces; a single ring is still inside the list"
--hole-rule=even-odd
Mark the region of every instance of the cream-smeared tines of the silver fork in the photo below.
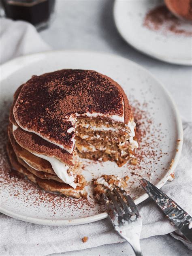
[[[139,211],[137,209],[137,206],[133,202],[130,195],[125,190],[118,189],[119,192],[121,192],[122,194],[121,195],[119,194],[117,189],[114,188],[113,191],[110,191],[109,189],[107,189],[107,193],[102,194],[103,201],[107,207],[107,210],[109,211],[109,214],[113,213],[113,215],[119,215],[119,216],[123,216],[125,214],[139,216]],[[117,198],[117,200],[115,197]]]

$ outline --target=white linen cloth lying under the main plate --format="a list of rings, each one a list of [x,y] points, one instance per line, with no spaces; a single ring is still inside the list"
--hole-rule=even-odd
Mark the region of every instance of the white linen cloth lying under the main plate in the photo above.
[[[35,28],[23,21],[0,19],[0,62],[28,53],[49,50]],[[183,120],[184,141],[182,155],[175,170],[175,179],[162,190],[190,215],[192,124]],[[174,232],[156,205],[147,199],[139,205],[143,228],[141,238]],[[0,214],[0,255],[47,255],[81,250],[103,244],[124,241],[117,235],[108,219],[78,226],[43,226],[15,220]],[[87,236],[88,241],[81,239]],[[173,233],[176,239],[180,239]],[[183,239],[180,239],[183,243]]]

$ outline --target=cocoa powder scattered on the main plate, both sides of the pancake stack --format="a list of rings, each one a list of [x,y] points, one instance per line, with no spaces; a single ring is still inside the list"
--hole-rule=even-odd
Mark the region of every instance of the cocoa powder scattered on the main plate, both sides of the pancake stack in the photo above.
[[[149,92],[147,91],[146,93]],[[166,135],[162,132],[161,124],[159,124],[158,127],[154,125],[154,121],[149,114],[151,111],[149,111],[150,104],[148,103],[150,102],[141,104],[134,99],[134,96],[130,96],[129,98],[133,106],[134,119],[137,123],[139,148],[136,151],[136,157],[138,163],[136,165],[130,163],[125,165],[122,175],[128,175],[130,177],[128,182],[129,190],[131,195],[134,196],[134,194],[138,194],[138,191],[141,190],[137,182],[141,177],[150,180],[152,174],[158,177],[158,174],[156,174],[157,170],[158,172],[160,169],[162,172],[164,171],[165,165],[162,164],[162,157],[167,156],[168,153],[162,152],[161,150],[160,143]],[[151,100],[153,104],[155,104],[155,100],[155,98]],[[4,116],[1,116],[0,122],[0,139],[2,141],[0,145],[0,182],[2,189],[6,191],[6,196],[4,196],[2,203],[10,202],[10,200],[12,200],[11,198],[14,196],[15,204],[18,202],[20,205],[22,202],[20,206],[23,207],[23,211],[25,211],[25,207],[28,205],[28,207],[33,207],[38,215],[39,211],[42,211],[42,207],[44,207],[46,212],[49,212],[49,217],[55,214],[65,216],[67,211],[71,213],[71,209],[73,209],[72,218],[73,216],[75,218],[75,216],[77,216],[76,214],[86,217],[90,214],[90,211],[92,211],[93,215],[105,211],[105,207],[103,206],[99,209],[95,209],[95,202],[92,198],[75,199],[67,198],[60,194],[51,194],[45,192],[28,179],[15,174],[6,155],[6,126],[9,119],[10,105],[11,102],[6,104],[5,109],[2,109]],[[93,162],[90,163],[90,167],[92,164]],[[95,164],[98,164],[98,162]],[[134,191],[132,191],[132,186],[134,187]]]

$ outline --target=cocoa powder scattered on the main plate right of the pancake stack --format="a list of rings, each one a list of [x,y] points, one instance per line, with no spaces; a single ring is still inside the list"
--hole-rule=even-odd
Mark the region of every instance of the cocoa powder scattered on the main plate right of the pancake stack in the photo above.
[[[159,172],[160,169],[164,171],[162,158],[168,155],[168,153],[163,152],[161,149],[161,143],[165,138],[165,134],[162,132],[161,123],[158,126],[154,126],[154,120],[149,113],[149,102],[141,104],[138,100],[135,100],[133,95],[129,96],[129,100],[132,106],[134,121],[136,122],[136,136],[139,148],[135,152],[137,164],[134,165],[130,161],[127,164],[127,169],[131,178],[129,188],[131,190],[131,186],[134,186],[134,194],[137,194],[139,191],[141,192],[140,186],[137,185],[139,179],[145,177],[152,181],[154,177],[158,176],[157,171]],[[154,104],[155,100],[154,98],[151,102]]]

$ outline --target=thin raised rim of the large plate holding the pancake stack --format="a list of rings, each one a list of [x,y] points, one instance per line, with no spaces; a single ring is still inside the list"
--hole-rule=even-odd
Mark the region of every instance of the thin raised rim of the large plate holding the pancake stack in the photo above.
[[[19,68],[23,67],[23,65],[33,62],[33,60],[38,58],[39,55],[41,55],[41,57],[43,58],[46,55],[53,54],[53,53],[71,53],[71,54],[81,53],[81,54],[90,54],[90,55],[95,54],[97,56],[100,55],[101,57],[105,57],[105,58],[107,58],[107,57],[119,58],[119,60],[121,60],[121,59],[126,60],[131,65],[134,65],[136,68],[143,70],[145,73],[147,73],[149,76],[153,77],[157,81],[158,85],[162,88],[162,91],[164,92],[164,94],[166,94],[166,96],[168,96],[169,102],[173,106],[173,109],[174,109],[173,113],[175,115],[176,128],[178,131],[177,139],[180,140],[180,143],[177,146],[177,149],[178,149],[177,154],[175,154],[175,157],[173,158],[173,164],[170,166],[166,175],[164,175],[164,177],[156,185],[158,188],[161,188],[166,183],[166,181],[169,179],[169,176],[171,175],[171,173],[174,172],[174,170],[177,166],[177,163],[179,161],[179,158],[181,156],[181,150],[182,150],[182,145],[183,145],[183,127],[182,127],[181,117],[179,115],[177,106],[175,105],[175,102],[173,101],[169,91],[164,87],[164,85],[162,85],[162,83],[158,79],[156,79],[156,77],[153,74],[151,74],[147,69],[143,68],[141,65],[139,65],[131,60],[128,60],[124,57],[118,56],[118,55],[102,53],[102,52],[98,52],[98,51],[58,50],[58,51],[45,51],[45,52],[40,52],[40,53],[24,55],[24,56],[15,58],[13,60],[10,60],[0,66],[0,76],[1,76],[0,81],[5,79],[5,77],[8,77],[9,75],[11,75],[12,72],[15,72]],[[143,192],[143,194],[141,196],[139,196],[138,198],[136,198],[134,200],[134,202],[136,205],[138,205],[139,203],[145,201],[148,197],[149,196]],[[70,226],[70,225],[85,224],[85,223],[90,223],[90,222],[95,222],[97,220],[105,219],[108,216],[107,212],[104,212],[104,213],[99,213],[99,214],[92,215],[92,216],[85,217],[85,218],[76,218],[76,219],[71,219],[71,220],[49,220],[49,219],[32,218],[32,217],[28,217],[25,215],[17,214],[12,211],[9,211],[7,209],[4,209],[1,206],[0,206],[0,212],[4,213],[5,215],[8,215],[12,218],[18,219],[18,220],[22,220],[25,222],[31,222],[34,224],[49,225],[49,226]]]

